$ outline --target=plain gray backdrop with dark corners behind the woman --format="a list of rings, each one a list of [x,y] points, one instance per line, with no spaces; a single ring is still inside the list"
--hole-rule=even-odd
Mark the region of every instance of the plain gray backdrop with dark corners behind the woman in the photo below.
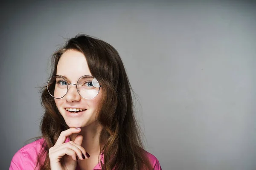
[[[40,135],[36,87],[56,45],[77,33],[119,51],[163,170],[256,169],[252,1],[9,2],[0,19],[1,170]]]

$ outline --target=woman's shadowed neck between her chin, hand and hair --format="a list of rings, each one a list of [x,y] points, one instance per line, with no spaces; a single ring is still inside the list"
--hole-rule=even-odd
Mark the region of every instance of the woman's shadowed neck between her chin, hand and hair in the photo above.
[[[102,130],[102,127],[98,122],[94,122],[85,127],[81,127],[80,135],[83,136],[83,142],[81,146],[85,149],[90,155],[99,155],[100,154],[100,145],[99,145],[99,134]],[[75,140],[78,134],[73,134],[70,136],[72,141]]]

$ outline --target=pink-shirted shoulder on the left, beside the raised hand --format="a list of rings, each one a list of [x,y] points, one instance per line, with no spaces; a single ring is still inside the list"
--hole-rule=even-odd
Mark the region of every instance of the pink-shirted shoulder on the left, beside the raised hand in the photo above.
[[[38,139],[21,147],[12,157],[9,170],[35,169],[38,154],[44,144],[44,139]]]

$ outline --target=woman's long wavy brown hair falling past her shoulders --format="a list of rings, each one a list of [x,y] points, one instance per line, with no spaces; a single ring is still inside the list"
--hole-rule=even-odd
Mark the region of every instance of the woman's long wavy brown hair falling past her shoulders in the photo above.
[[[52,54],[50,77],[56,75],[58,61],[69,49],[84,54],[91,74],[104,89],[97,113],[98,122],[103,127],[99,137],[100,145],[104,142],[100,148],[101,152],[104,151],[104,162],[100,162],[102,170],[152,170],[134,115],[133,91],[116,49],[95,37],[78,34]],[[45,110],[40,125],[44,144],[37,166],[41,170],[49,170],[49,148],[55,144],[61,131],[69,127],[47,88],[43,88],[41,93],[41,104]],[[45,155],[46,159],[41,160]]]

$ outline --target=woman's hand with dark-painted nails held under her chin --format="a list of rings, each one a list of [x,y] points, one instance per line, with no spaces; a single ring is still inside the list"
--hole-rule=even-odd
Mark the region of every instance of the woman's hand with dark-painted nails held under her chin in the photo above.
[[[76,129],[72,127],[61,132],[55,145],[49,149],[51,170],[75,170],[78,158],[81,160],[85,159],[86,152],[81,147],[83,136],[78,135],[74,142],[64,143],[68,136],[73,133],[79,133],[80,131],[81,128]],[[63,162],[62,165],[61,161]]]

